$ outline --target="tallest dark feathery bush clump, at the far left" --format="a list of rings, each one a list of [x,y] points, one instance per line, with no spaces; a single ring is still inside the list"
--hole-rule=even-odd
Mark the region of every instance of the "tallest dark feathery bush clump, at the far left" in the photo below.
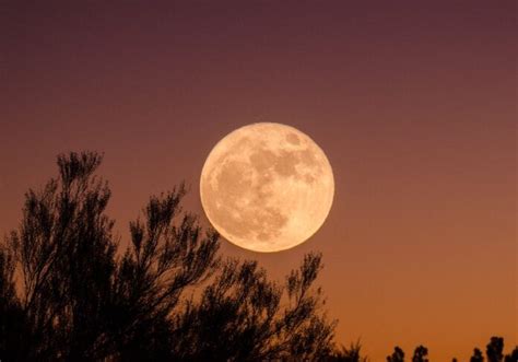
[[[27,359],[96,357],[116,250],[113,221],[104,214],[109,189],[92,176],[99,163],[93,153],[59,156],[59,177],[26,194],[22,223],[9,237],[23,276]]]

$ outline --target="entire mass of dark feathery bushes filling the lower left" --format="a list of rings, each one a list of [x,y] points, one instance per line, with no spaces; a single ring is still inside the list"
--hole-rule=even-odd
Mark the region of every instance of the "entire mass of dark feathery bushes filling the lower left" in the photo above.
[[[307,255],[284,284],[222,260],[219,235],[181,210],[185,187],[151,197],[117,254],[102,156],[58,156],[0,249],[0,358],[56,361],[325,360],[334,322]],[[14,276],[20,276],[20,293]]]

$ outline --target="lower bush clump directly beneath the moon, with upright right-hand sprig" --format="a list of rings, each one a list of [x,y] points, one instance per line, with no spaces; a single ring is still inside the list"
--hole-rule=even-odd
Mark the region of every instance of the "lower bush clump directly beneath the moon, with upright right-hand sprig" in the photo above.
[[[282,288],[268,281],[256,261],[224,262],[200,303],[189,302],[176,319],[175,335],[183,337],[175,355],[186,361],[323,359],[334,324],[317,314],[320,291],[309,291],[320,266],[319,255],[307,255]]]

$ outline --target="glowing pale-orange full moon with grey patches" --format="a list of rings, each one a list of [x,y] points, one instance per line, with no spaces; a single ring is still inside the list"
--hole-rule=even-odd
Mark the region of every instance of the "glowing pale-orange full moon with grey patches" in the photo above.
[[[280,252],[307,241],[326,221],[333,195],[323,151],[281,124],[252,124],[228,133],[201,172],[209,221],[231,243],[255,252]]]

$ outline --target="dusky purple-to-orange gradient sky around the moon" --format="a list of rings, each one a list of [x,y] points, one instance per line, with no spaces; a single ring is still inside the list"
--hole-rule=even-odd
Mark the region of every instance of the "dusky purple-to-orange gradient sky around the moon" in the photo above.
[[[337,341],[373,361],[518,342],[515,1],[0,4],[0,234],[61,152],[104,152],[122,243],[153,194],[232,130],[281,122],[333,167],[329,218],[257,254],[282,280],[321,252]]]

